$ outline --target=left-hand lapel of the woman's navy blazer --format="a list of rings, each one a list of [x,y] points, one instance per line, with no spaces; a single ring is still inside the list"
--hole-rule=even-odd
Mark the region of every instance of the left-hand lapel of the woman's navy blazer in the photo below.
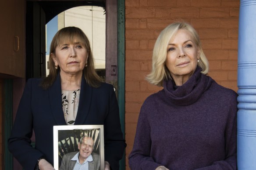
[[[49,88],[50,108],[57,125],[67,125],[64,119],[61,98],[60,72],[57,74],[57,79]]]

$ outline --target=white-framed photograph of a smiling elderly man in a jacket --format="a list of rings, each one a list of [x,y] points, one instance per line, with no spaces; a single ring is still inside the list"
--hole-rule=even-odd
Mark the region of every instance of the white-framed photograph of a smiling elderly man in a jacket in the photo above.
[[[103,125],[53,126],[53,157],[55,170],[104,170]]]

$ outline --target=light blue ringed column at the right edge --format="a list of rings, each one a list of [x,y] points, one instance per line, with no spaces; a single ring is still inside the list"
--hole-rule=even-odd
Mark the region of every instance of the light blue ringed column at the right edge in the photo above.
[[[256,0],[240,0],[238,170],[256,170]]]

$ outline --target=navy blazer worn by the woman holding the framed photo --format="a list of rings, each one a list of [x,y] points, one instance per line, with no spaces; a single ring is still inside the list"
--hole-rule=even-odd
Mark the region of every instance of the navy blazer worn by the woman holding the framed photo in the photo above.
[[[67,125],[62,109],[60,74],[47,90],[39,87],[41,80],[28,80],[8,139],[10,152],[25,170],[34,170],[41,156],[53,165],[53,125]],[[102,83],[98,88],[90,87],[82,76],[75,125],[104,125],[105,160],[113,170],[119,170],[126,144],[112,85]],[[32,129],[36,137],[35,149],[30,145]]]

